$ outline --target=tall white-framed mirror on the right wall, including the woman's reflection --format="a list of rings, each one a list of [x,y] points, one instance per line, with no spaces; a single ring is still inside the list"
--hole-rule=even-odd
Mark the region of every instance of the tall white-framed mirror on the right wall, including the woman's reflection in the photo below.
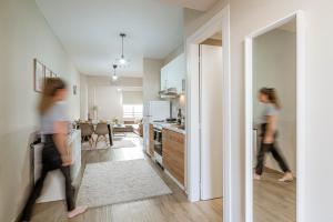
[[[248,222],[302,221],[303,26],[295,12],[245,40]]]

